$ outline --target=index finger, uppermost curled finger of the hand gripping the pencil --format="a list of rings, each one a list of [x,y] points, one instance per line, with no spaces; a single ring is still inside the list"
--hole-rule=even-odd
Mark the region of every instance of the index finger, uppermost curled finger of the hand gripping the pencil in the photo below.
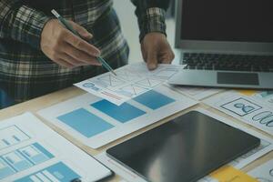
[[[100,51],[98,50],[98,48],[96,48],[96,46],[90,45],[85,40],[76,35],[73,35],[69,31],[66,31],[66,33],[64,33],[64,39],[66,43],[73,45],[76,49],[84,51],[86,54],[90,56],[100,55]]]

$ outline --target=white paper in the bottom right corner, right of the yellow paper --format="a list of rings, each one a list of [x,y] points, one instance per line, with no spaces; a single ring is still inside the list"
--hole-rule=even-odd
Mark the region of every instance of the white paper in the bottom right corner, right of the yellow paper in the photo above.
[[[249,171],[248,175],[260,182],[273,182],[273,159]]]

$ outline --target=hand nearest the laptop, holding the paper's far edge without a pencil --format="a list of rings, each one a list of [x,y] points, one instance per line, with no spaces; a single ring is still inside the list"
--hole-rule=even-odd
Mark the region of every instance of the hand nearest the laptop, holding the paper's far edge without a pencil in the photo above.
[[[161,33],[149,33],[141,42],[143,59],[150,70],[156,69],[157,64],[171,64],[175,55],[167,42],[165,35]]]

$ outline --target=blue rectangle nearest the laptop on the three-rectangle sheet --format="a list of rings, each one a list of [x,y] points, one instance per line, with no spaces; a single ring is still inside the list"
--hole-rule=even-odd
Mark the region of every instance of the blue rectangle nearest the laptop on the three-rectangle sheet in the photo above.
[[[136,102],[144,106],[147,106],[153,110],[160,108],[162,106],[167,106],[168,104],[175,102],[174,99],[162,95],[154,90],[150,90],[147,93],[144,93],[140,96],[136,96],[133,99],[136,100]]]

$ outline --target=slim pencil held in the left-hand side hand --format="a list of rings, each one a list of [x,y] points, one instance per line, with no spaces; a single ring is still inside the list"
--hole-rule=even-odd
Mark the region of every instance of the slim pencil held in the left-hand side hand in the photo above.
[[[58,21],[60,22],[60,24],[64,25],[69,31],[71,31],[74,35],[77,35],[79,37],[81,37],[81,35],[78,34],[78,32],[76,32],[76,30],[72,27],[72,25],[70,25],[65,18],[63,18],[61,15],[59,15],[55,9],[51,10],[51,13],[53,15],[56,16],[56,18],[58,19]],[[113,70],[113,68],[111,66],[109,66],[106,62],[106,60],[104,60],[101,56],[97,56],[96,60],[98,62],[100,62],[102,64],[102,66],[104,66],[109,72],[111,72],[113,75],[116,76],[115,71]]]

